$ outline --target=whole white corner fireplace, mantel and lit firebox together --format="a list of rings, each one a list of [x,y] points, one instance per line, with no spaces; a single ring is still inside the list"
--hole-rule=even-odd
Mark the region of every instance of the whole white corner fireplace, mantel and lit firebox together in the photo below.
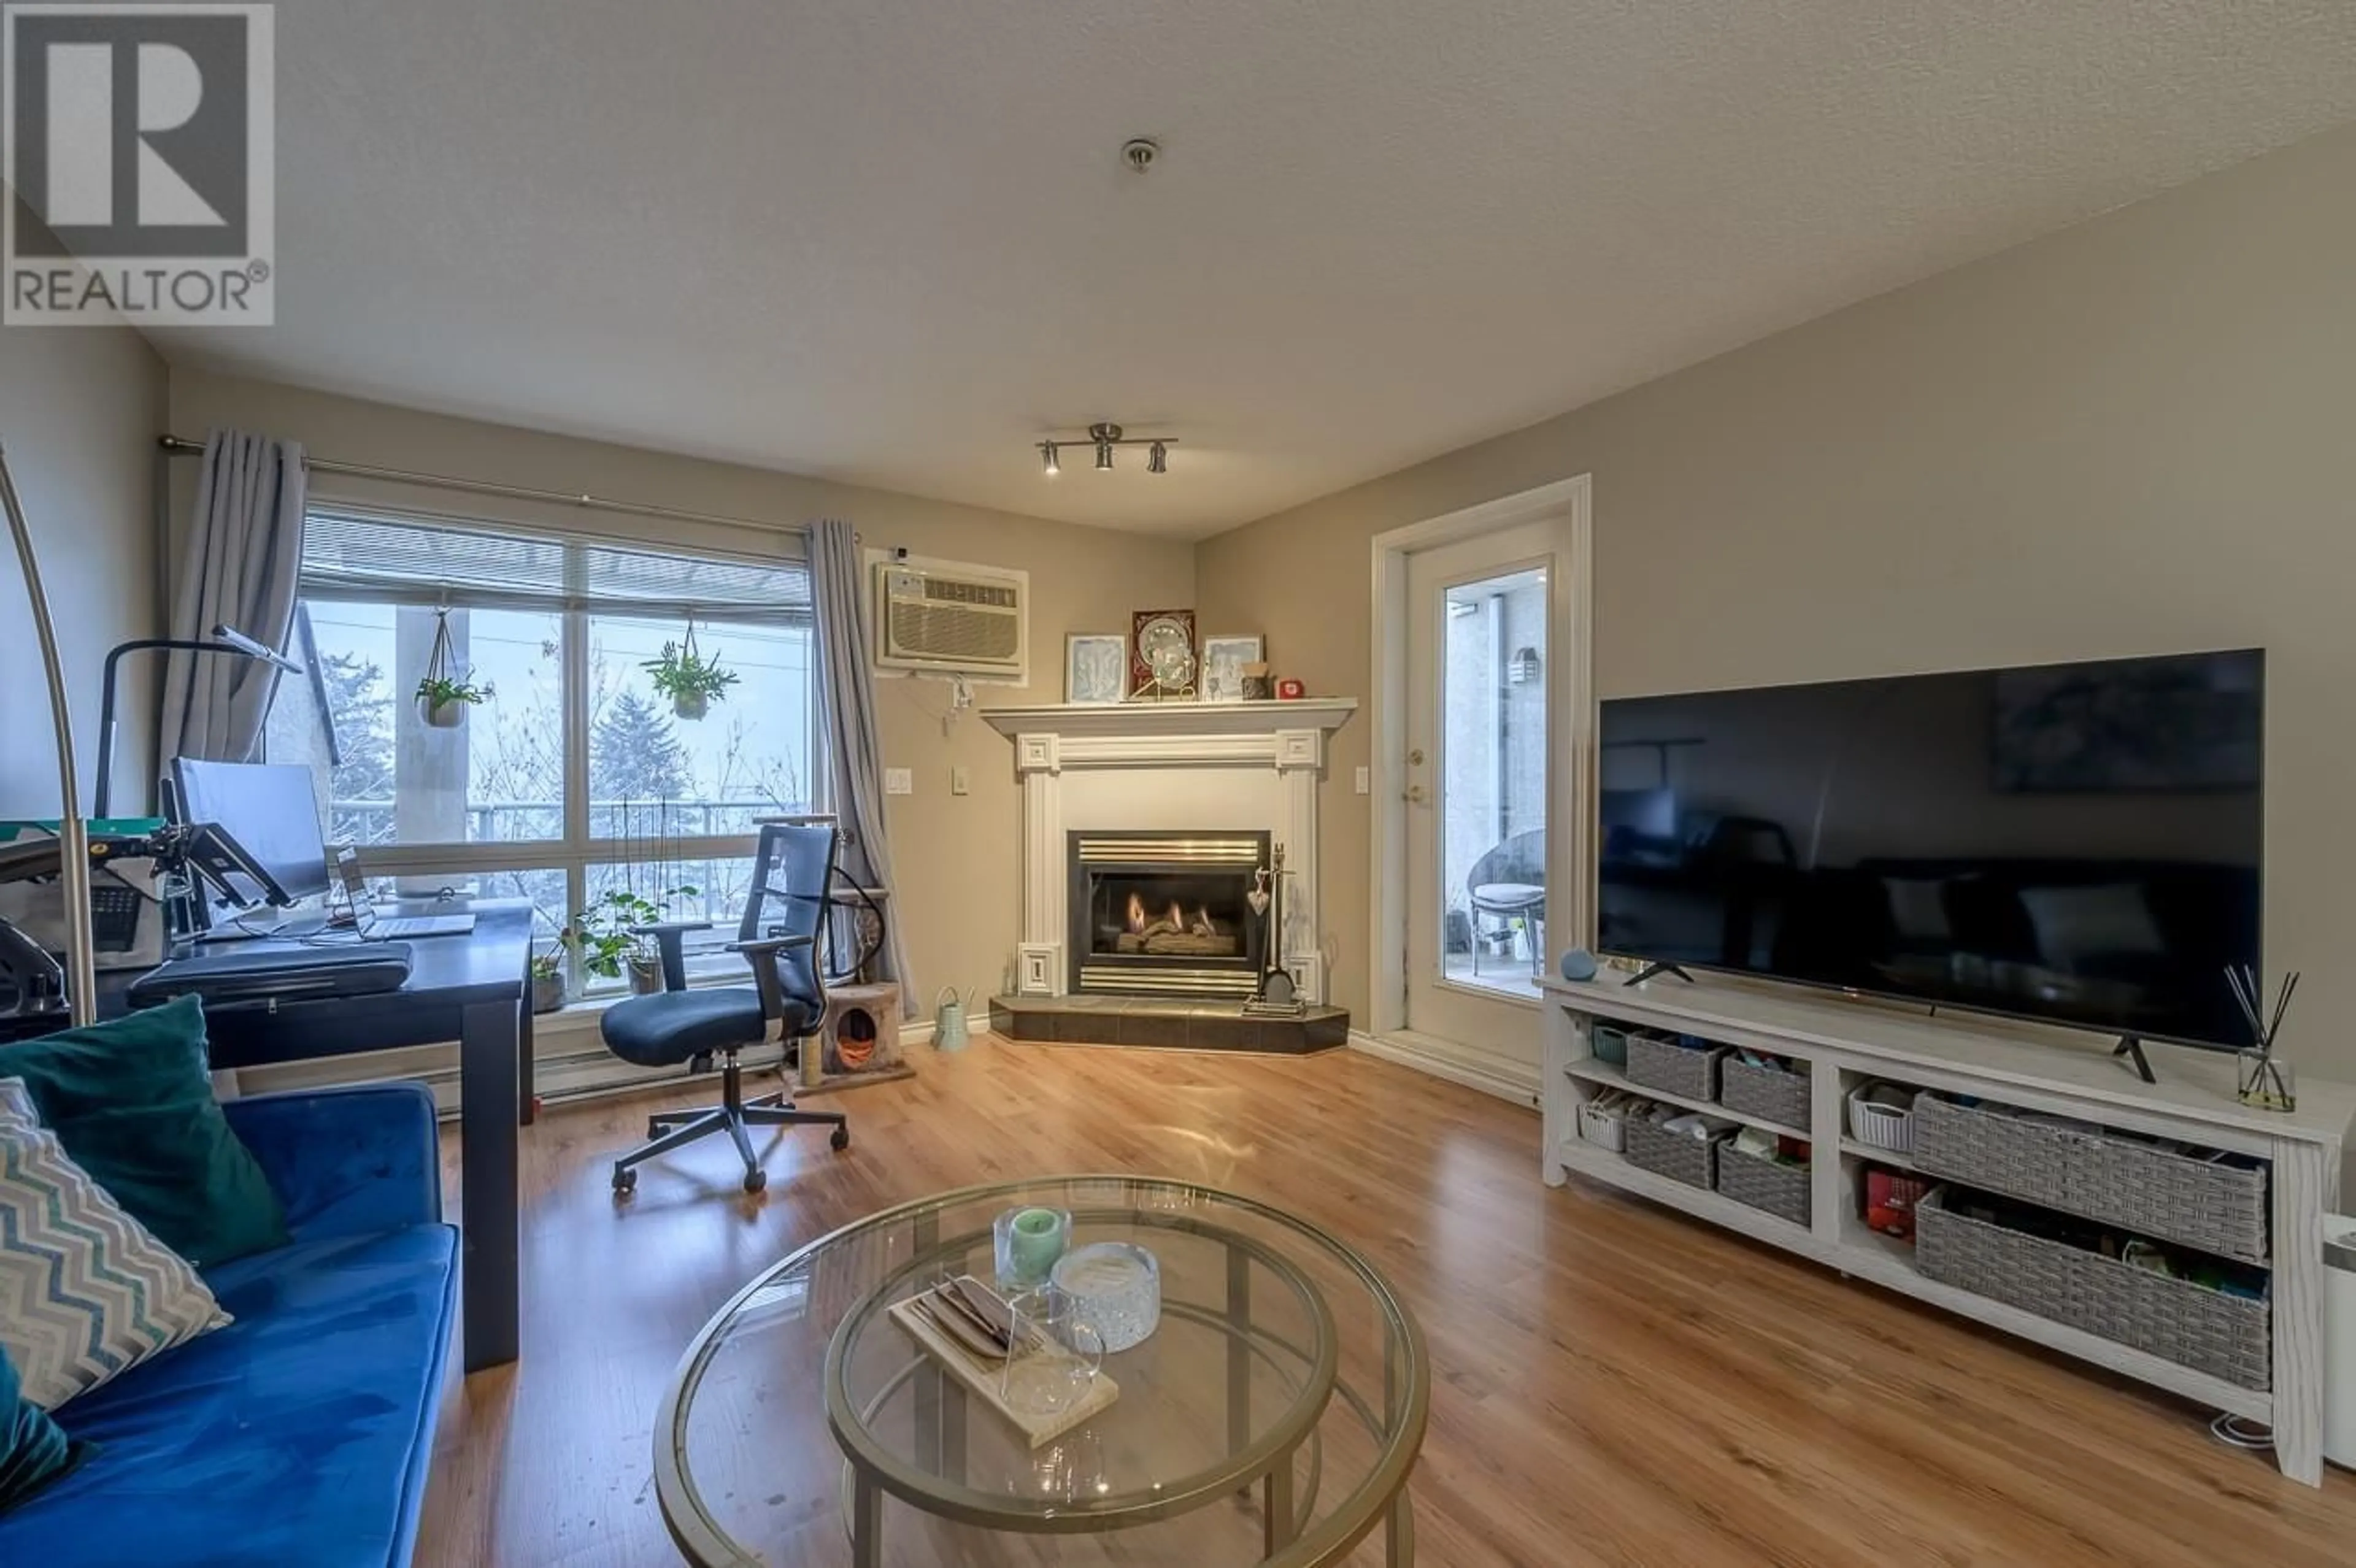
[[[1070,1008],[1096,996],[1112,998],[1107,1015],[1124,998],[1235,1012],[1272,944],[1298,996],[1324,1003],[1317,782],[1326,735],[1352,711],[1348,699],[987,709],[1023,779],[1011,1001],[1072,998],[1055,1010],[1070,1029],[1084,1026]],[[1249,892],[1279,848],[1284,928],[1268,930]]]

